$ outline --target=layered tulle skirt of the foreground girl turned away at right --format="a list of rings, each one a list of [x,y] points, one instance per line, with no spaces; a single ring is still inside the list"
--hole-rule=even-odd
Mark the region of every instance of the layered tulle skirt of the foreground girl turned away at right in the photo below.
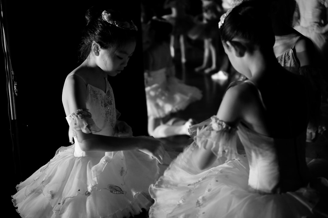
[[[316,217],[313,208],[319,193],[304,187],[297,192],[260,194],[248,189],[246,155],[225,163],[218,158],[206,170],[197,170],[191,161],[191,144],[175,159],[164,175],[150,187],[155,199],[149,215],[160,217],[290,218]],[[323,186],[327,188],[327,180]]]

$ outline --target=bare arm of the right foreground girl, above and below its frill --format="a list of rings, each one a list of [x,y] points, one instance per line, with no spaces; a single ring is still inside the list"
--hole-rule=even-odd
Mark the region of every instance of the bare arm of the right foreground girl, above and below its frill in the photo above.
[[[243,107],[241,94],[238,86],[228,89],[217,112],[216,116],[230,126],[236,126],[240,120]],[[196,146],[192,154],[194,165],[200,170],[206,169],[217,159],[214,153],[216,151],[212,151],[209,147],[205,149]]]

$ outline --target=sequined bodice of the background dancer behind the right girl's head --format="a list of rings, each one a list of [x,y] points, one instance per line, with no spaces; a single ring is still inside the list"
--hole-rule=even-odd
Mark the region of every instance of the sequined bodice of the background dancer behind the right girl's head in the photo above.
[[[276,54],[278,63],[286,70],[299,74],[300,64],[296,59],[295,44],[300,38],[296,34],[289,34],[286,36],[275,36],[276,41],[273,46],[275,54],[278,49],[285,48],[284,52]]]

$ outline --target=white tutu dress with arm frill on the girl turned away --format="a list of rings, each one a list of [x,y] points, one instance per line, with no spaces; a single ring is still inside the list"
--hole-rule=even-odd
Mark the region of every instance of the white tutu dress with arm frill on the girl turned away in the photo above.
[[[316,208],[323,196],[307,181],[305,132],[273,138],[216,116],[190,131],[195,141],[150,187],[151,218],[300,218],[316,217],[315,210],[327,217],[326,208]],[[237,135],[244,150],[237,150]],[[197,146],[218,148],[205,170],[192,161]],[[315,181],[327,191],[327,179]]]

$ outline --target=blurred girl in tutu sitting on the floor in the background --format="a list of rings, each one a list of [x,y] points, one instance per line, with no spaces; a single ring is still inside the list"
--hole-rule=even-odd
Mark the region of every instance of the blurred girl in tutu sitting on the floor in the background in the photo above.
[[[183,84],[175,77],[175,66],[168,44],[172,25],[163,18],[153,17],[144,27],[148,133],[155,138],[189,135],[188,129],[194,120],[185,121],[171,114],[200,100],[201,91]]]

